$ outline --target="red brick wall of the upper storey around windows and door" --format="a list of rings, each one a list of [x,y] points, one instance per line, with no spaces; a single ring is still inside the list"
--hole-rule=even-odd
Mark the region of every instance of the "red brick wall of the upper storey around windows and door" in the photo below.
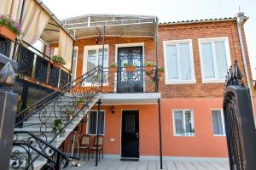
[[[242,29],[244,42],[245,35]],[[192,48],[194,54],[194,66],[195,66],[195,79],[196,84],[170,84],[165,85],[164,81],[160,81],[160,93],[164,99],[175,98],[206,98],[206,97],[223,97],[224,83],[202,83],[201,80],[201,62],[199,56],[198,38],[208,37],[228,37],[230,44],[230,57],[233,63],[235,59],[238,60],[240,69],[244,75],[244,67],[241,58],[241,47],[237,32],[236,21],[222,21],[222,22],[208,22],[186,25],[160,25],[158,30],[158,56],[159,64],[164,67],[164,53],[163,53],[163,41],[168,40],[182,40],[192,39]],[[142,38],[142,37],[106,37],[105,43],[109,45],[108,62],[113,63],[115,60],[115,44],[119,43],[136,43],[144,42],[144,56],[145,61],[154,60],[154,39]],[[102,44],[102,40],[98,42],[98,45]],[[77,63],[77,76],[80,76],[83,71],[84,63],[84,46],[96,45],[96,38],[84,38],[79,39],[76,44],[79,47],[78,63]],[[247,49],[247,45],[245,43]],[[249,73],[251,75],[250,63],[247,54],[247,65]],[[251,77],[252,80],[252,77]],[[244,81],[246,82],[246,81]]]

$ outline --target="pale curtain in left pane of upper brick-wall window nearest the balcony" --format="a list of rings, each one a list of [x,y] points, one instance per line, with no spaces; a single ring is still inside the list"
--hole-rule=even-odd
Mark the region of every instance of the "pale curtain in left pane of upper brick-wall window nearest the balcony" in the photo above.
[[[177,79],[177,48],[175,45],[166,46],[168,79]]]

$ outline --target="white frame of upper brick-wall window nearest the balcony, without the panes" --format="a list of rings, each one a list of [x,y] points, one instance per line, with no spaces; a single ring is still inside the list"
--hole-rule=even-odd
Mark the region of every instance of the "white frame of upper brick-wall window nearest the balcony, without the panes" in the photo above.
[[[196,83],[195,79],[195,65],[194,65],[194,54],[193,54],[193,44],[191,39],[183,39],[183,40],[168,40],[168,41],[163,41],[163,46],[164,46],[164,60],[165,60],[165,68],[168,70],[167,66],[167,52],[166,52],[166,46],[167,45],[175,45],[178,47],[179,43],[189,43],[189,64],[190,64],[190,71],[191,71],[191,79],[190,80],[181,80],[181,73],[180,73],[180,63],[179,63],[179,54],[177,52],[177,70],[178,70],[178,79],[168,79],[168,71],[165,71],[165,84],[194,84]],[[178,51],[178,50],[177,50]]]

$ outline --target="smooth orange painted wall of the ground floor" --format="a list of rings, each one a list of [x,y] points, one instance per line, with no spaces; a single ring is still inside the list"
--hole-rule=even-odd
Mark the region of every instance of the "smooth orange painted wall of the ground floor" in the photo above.
[[[221,98],[161,99],[163,155],[227,157],[225,137],[213,136],[212,132],[211,110],[221,109],[222,101]],[[104,154],[120,155],[121,111],[139,110],[140,156],[159,156],[157,105],[114,105],[114,114],[111,113],[111,107],[102,106],[102,110],[106,111]],[[173,109],[193,109],[195,137],[173,136]]]

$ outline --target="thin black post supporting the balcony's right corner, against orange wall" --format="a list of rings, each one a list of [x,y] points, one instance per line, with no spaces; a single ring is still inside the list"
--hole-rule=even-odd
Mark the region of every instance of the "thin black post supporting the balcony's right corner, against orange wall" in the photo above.
[[[163,169],[163,150],[162,150],[162,125],[161,125],[161,105],[160,99],[157,99],[158,103],[158,119],[159,119],[159,146],[160,146],[160,169]]]

